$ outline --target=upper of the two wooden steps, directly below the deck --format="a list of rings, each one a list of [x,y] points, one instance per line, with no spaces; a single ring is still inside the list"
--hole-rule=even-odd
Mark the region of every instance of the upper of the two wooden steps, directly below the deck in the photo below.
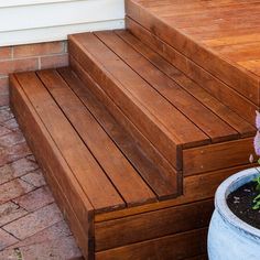
[[[245,138],[254,134],[254,127],[128,31],[72,35],[69,54],[75,72],[110,112],[121,121],[115,112],[120,110],[177,171],[188,175],[248,161],[251,138]],[[243,150],[232,162],[220,156],[223,163],[210,167],[214,160],[206,156],[197,165],[188,159],[212,149],[231,156],[232,144]]]

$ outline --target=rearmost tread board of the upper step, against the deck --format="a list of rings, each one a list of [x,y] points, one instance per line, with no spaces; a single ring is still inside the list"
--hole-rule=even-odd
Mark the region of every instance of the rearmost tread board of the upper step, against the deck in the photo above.
[[[230,108],[208,94],[204,88],[185,76],[185,74],[183,74],[176,67],[165,61],[161,55],[154,53],[148,45],[143,44],[130,32],[126,30],[119,30],[116,31],[116,33],[123,41],[130,44],[136,51],[148,58],[162,73],[176,82],[180,86],[182,86],[182,88],[193,95],[193,97],[201,101],[205,107],[210,109],[219,118],[221,118],[229,126],[236,129],[236,131],[239,132],[240,137],[253,136],[256,133],[256,128],[253,126],[245,121],[238,113],[234,112]]]

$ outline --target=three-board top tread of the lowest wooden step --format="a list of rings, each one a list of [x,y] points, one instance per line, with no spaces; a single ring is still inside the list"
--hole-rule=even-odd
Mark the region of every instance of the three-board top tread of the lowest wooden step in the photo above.
[[[12,87],[25,94],[96,212],[176,196],[176,174],[163,175],[71,69],[13,77]]]

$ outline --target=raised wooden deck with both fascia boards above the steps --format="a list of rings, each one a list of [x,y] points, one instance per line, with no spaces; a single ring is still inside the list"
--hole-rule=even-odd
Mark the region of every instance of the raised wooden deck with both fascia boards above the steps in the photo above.
[[[134,35],[253,123],[260,88],[258,2],[126,3],[127,28]]]

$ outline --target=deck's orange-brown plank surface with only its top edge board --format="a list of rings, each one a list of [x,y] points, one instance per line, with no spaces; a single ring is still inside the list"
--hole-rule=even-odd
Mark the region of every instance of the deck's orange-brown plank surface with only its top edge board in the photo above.
[[[260,1],[126,2],[131,19],[259,105]]]

